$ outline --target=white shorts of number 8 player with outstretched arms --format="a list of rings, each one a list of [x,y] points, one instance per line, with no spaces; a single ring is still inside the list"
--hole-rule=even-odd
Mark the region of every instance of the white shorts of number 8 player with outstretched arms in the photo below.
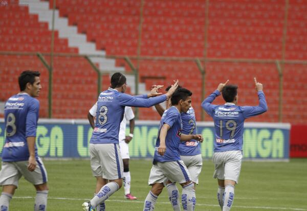
[[[109,180],[123,177],[123,160],[118,144],[90,144],[90,156],[94,177]]]

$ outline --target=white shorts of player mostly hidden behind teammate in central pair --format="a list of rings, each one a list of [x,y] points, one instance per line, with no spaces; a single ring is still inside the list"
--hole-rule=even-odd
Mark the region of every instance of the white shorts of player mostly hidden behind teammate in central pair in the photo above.
[[[199,181],[199,176],[202,171],[202,166],[203,166],[203,158],[202,155],[194,155],[194,156],[183,156],[180,155],[180,158],[186,165],[190,175],[192,182],[198,184]]]

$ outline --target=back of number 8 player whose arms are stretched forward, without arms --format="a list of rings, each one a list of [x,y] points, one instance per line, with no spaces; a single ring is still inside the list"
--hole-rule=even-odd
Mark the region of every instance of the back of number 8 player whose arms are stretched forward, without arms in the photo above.
[[[118,144],[120,123],[125,106],[121,106],[115,89],[100,93],[97,101],[96,123],[91,137],[91,144]]]

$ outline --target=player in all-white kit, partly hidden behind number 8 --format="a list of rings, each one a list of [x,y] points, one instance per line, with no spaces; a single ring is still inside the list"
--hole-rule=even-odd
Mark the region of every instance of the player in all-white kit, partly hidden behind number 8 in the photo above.
[[[95,116],[97,112],[97,102],[93,107],[90,109],[89,114],[87,114],[87,119],[89,119],[89,122],[94,129],[95,127]],[[126,121],[129,121],[129,128],[130,133],[126,136]],[[133,131],[135,127],[135,115],[133,113],[133,110],[131,107],[126,106],[125,112],[124,112],[124,118],[122,122],[120,123],[119,127],[119,148],[120,148],[120,154],[123,159],[123,165],[124,165],[124,175],[123,175],[123,182],[124,182],[124,192],[125,192],[125,198],[129,200],[135,200],[137,197],[133,196],[130,193],[130,183],[131,183],[131,175],[129,171],[129,146],[128,144],[133,138]]]

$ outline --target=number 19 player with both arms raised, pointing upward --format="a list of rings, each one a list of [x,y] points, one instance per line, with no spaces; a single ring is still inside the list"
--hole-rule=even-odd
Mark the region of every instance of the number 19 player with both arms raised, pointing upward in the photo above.
[[[258,106],[237,106],[238,95],[236,85],[221,83],[217,89],[202,103],[202,107],[213,118],[215,142],[213,162],[217,178],[217,200],[223,211],[230,210],[234,199],[234,185],[238,182],[243,147],[244,121],[267,111],[268,106],[263,86],[254,78],[258,92]],[[226,101],[224,105],[212,105],[213,100],[222,92]]]

